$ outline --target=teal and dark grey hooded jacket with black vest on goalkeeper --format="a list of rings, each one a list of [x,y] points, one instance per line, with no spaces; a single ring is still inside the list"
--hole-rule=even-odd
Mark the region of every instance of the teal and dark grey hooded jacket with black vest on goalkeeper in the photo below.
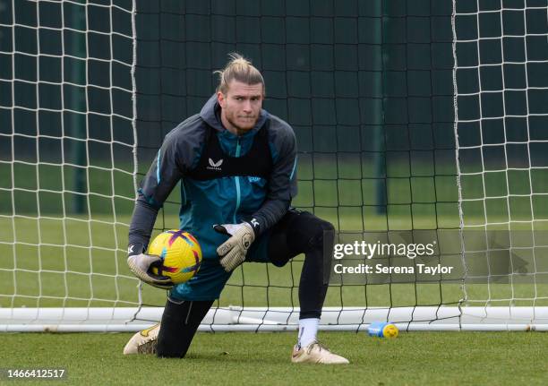
[[[289,124],[263,109],[255,127],[237,136],[221,124],[214,95],[199,115],[167,133],[141,181],[128,250],[146,249],[158,210],[181,181],[180,228],[198,239],[204,259],[218,260],[216,249],[227,236],[212,226],[255,219],[260,236],[295,197],[295,170],[295,133]]]

